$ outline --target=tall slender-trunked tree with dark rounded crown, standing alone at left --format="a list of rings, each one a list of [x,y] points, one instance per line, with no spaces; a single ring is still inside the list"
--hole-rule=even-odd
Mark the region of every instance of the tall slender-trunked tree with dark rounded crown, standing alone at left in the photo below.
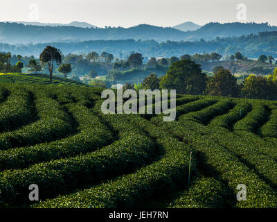
[[[60,65],[62,62],[62,55],[60,50],[52,46],[46,46],[44,51],[42,51],[40,54],[39,60],[42,62],[42,65],[48,65],[50,83],[52,83],[54,62],[56,62],[57,65]]]

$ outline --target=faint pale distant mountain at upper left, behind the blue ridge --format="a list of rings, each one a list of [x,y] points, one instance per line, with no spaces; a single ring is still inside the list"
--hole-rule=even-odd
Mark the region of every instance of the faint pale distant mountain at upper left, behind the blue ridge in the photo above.
[[[8,21],[7,21],[8,22]],[[14,22],[8,22],[8,23],[14,23]],[[42,23],[42,22],[15,22],[17,24],[24,24],[26,26],[74,26],[78,28],[97,28],[96,26],[93,26],[87,22],[71,22],[69,24],[62,24],[62,23]]]

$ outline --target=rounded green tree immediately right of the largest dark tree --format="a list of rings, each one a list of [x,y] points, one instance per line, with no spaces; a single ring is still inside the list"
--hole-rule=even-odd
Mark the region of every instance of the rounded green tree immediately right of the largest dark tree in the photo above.
[[[238,96],[237,78],[229,69],[218,67],[215,75],[208,79],[206,93],[211,96]]]

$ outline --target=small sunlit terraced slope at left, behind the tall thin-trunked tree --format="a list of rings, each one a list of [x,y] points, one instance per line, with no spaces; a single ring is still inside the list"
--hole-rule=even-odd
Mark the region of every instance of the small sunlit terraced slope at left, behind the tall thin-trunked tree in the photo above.
[[[49,76],[47,74],[0,74],[0,83],[36,83],[39,85],[48,85]],[[53,84],[55,85],[71,85],[82,86],[83,83],[70,80],[68,78],[61,78],[53,76]]]

